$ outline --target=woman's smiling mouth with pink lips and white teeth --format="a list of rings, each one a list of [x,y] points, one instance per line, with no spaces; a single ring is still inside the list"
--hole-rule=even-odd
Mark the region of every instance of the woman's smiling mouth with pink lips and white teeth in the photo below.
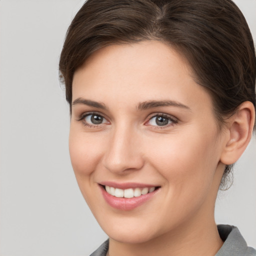
[[[116,187],[117,186],[117,187]],[[132,210],[153,198],[160,186],[141,184],[99,184],[105,201],[118,210]],[[122,188],[121,188],[122,187]]]

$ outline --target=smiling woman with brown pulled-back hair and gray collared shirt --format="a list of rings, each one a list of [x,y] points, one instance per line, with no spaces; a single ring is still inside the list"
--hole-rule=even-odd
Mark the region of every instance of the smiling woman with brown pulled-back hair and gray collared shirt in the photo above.
[[[59,70],[91,255],[256,255],[214,204],[255,121],[256,59],[230,0],[88,0]]]

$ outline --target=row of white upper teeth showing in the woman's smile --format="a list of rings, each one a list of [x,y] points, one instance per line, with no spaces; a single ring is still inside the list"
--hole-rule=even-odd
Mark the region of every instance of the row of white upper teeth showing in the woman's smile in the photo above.
[[[133,196],[138,197],[143,194],[151,193],[155,190],[155,187],[143,187],[143,188],[127,188],[127,189],[120,189],[114,188],[112,186],[105,186],[107,193],[115,196],[115,197],[125,197],[125,198],[132,198]]]

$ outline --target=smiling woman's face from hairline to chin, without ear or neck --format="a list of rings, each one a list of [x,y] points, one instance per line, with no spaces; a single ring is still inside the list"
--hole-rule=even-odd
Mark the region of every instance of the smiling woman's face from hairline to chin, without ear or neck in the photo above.
[[[72,86],[72,166],[112,239],[143,242],[213,219],[223,133],[184,58],[157,41],[111,45]]]

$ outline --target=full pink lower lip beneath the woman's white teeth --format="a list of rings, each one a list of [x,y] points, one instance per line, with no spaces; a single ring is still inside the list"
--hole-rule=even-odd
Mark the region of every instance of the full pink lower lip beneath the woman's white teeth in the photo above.
[[[145,203],[146,201],[148,201],[159,190],[159,189],[156,189],[153,192],[143,194],[137,197],[134,196],[132,198],[125,198],[125,197],[115,197],[107,193],[104,187],[102,187],[101,185],[100,185],[100,188],[106,202],[113,208],[116,208],[119,210],[132,210],[140,206],[141,204]]]

